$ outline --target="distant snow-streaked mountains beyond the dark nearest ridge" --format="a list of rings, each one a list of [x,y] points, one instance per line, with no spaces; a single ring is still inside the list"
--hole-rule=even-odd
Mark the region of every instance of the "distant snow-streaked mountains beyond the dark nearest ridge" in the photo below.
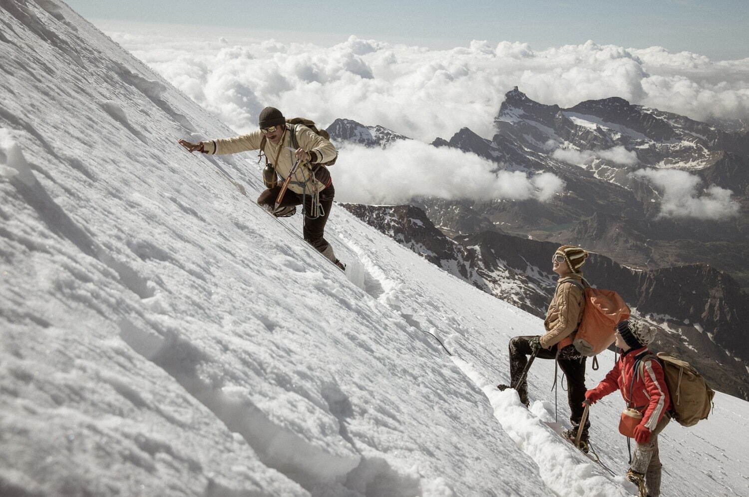
[[[413,199],[446,235],[501,229],[580,244],[640,268],[705,262],[749,289],[749,131],[721,130],[616,97],[562,109],[530,100],[518,88],[506,94],[494,124],[492,139],[463,128],[432,145],[473,152],[496,163],[497,170],[553,172],[565,181],[565,192],[543,203]],[[339,119],[329,131],[334,141],[345,143],[356,130],[370,128],[375,127]],[[377,129],[383,139],[369,133],[369,146],[405,138]],[[589,159],[567,163],[560,158],[565,152]],[[723,220],[658,217],[662,193],[631,175],[646,167],[682,169],[706,185],[732,190],[739,215]]]

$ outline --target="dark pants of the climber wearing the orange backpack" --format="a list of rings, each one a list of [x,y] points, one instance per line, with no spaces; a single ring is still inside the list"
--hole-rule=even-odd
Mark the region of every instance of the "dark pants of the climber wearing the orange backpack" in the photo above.
[[[533,351],[530,349],[530,339],[533,337],[514,337],[510,340],[510,379],[511,385],[515,386],[518,382],[518,377],[521,376],[525,365],[528,364],[527,356]],[[537,359],[554,359],[557,358],[562,373],[567,378],[567,402],[569,403],[569,410],[571,416],[569,421],[572,424],[574,430],[580,427],[580,419],[583,418],[583,400],[585,400],[585,360],[586,358],[577,352],[574,345],[568,345],[560,351],[559,357],[557,357],[557,346],[549,349],[539,350],[539,354],[536,355]],[[528,398],[528,382],[527,376],[523,379],[520,385],[518,385],[518,395],[521,400],[527,400]],[[585,427],[583,433],[588,433],[590,427],[590,416],[585,421]]]

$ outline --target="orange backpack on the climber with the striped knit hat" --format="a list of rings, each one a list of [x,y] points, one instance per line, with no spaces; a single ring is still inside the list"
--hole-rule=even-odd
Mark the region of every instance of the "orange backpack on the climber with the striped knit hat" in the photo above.
[[[584,281],[584,280],[583,280]],[[572,283],[583,290],[585,307],[583,318],[572,337],[577,352],[587,357],[599,354],[614,341],[616,323],[629,318],[629,307],[613,290],[592,288],[585,282],[568,278],[560,283]]]

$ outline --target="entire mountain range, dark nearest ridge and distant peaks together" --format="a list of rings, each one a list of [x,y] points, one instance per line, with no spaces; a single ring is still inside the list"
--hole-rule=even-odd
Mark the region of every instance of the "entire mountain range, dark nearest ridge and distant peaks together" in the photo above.
[[[497,171],[553,172],[565,181],[564,193],[549,202],[418,198],[411,205],[345,207],[446,271],[538,316],[554,289],[551,253],[558,244],[586,247],[594,252],[586,277],[616,289],[637,316],[663,329],[660,350],[687,358],[721,391],[749,399],[749,131],[618,97],[562,109],[518,88],[506,94],[494,124],[492,139],[463,128],[432,145],[473,152]],[[348,119],[328,130],[342,146],[384,148],[407,139]],[[567,162],[565,154],[580,160]],[[679,169],[730,189],[739,215],[659,217],[662,192],[631,175],[644,168]]]

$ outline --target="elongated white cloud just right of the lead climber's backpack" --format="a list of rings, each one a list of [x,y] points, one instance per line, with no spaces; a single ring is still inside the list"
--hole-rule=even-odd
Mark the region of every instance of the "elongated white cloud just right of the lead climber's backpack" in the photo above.
[[[419,196],[440,199],[551,199],[564,182],[549,172],[492,172],[497,164],[455,148],[415,140],[387,148],[346,145],[330,168],[336,199],[366,204],[401,204]]]

